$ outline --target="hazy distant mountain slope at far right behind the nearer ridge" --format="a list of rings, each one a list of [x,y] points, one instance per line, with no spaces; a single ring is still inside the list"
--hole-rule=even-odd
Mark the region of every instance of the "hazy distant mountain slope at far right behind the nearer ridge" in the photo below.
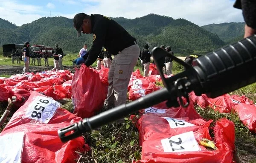
[[[207,31],[217,34],[225,43],[233,43],[243,38],[244,22],[224,22],[201,26]]]

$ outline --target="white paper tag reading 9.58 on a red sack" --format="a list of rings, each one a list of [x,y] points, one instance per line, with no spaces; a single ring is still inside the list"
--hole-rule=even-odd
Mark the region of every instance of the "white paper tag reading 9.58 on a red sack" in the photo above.
[[[47,124],[55,114],[60,103],[52,98],[36,96],[26,111],[25,118],[35,119]]]

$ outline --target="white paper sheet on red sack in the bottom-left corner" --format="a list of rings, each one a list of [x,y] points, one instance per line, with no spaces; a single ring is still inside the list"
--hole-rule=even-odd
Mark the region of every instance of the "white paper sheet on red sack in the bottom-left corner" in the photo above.
[[[0,163],[21,163],[24,132],[0,136]]]

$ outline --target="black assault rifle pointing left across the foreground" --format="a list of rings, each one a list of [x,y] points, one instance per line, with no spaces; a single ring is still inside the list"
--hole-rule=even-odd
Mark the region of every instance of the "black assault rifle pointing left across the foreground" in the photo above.
[[[193,67],[162,48],[155,47],[152,50],[152,56],[163,80],[165,86],[163,89],[59,129],[58,135],[61,141],[69,141],[84,132],[91,132],[134,111],[151,107],[162,101],[167,101],[168,107],[179,105],[186,107],[189,104],[188,93],[191,91],[194,91],[197,96],[205,93],[208,97],[215,98],[256,82],[256,35],[195,59]],[[165,78],[160,66],[160,60],[164,56],[171,57],[186,70]],[[182,97],[186,98],[186,103],[183,103]]]

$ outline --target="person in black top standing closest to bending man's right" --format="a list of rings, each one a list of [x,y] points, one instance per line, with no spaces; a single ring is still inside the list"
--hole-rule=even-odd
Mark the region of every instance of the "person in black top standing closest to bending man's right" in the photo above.
[[[143,74],[144,77],[148,76],[148,73],[149,73],[149,65],[150,65],[151,54],[148,51],[148,48],[149,48],[149,45],[148,45],[148,43],[146,43],[144,45],[143,51],[141,52],[141,59],[143,61],[143,67],[144,67],[144,74]]]

